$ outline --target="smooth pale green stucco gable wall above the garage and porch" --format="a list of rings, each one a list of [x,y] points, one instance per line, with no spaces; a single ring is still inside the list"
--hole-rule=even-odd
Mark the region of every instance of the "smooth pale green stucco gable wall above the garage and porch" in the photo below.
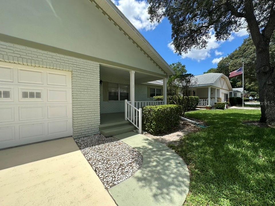
[[[1,1],[0,13],[0,34],[41,44],[36,48],[56,47],[164,74],[89,0]]]

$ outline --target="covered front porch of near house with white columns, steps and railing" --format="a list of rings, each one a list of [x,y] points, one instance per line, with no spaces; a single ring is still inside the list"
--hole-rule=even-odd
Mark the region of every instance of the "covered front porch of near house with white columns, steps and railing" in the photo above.
[[[163,84],[150,83],[163,80]],[[166,104],[166,82],[156,74],[100,66],[100,125],[104,136],[138,130],[142,132],[142,108]],[[164,101],[154,101],[154,96],[164,96]]]

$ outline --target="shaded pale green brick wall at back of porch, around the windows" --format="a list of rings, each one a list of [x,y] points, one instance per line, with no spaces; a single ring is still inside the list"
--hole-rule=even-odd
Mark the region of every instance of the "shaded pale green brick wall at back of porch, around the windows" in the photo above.
[[[111,76],[100,76],[100,79],[103,82],[130,84],[130,80],[118,79]],[[154,101],[153,98],[147,97],[147,85],[135,84],[135,101]],[[124,104],[124,101],[103,101],[103,86],[100,86],[100,113],[124,112]]]

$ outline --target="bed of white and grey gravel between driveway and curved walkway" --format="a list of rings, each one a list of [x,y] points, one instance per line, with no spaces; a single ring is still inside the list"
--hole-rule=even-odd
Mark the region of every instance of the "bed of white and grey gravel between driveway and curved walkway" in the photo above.
[[[114,137],[96,134],[75,142],[106,188],[131,177],[142,165],[142,155]]]

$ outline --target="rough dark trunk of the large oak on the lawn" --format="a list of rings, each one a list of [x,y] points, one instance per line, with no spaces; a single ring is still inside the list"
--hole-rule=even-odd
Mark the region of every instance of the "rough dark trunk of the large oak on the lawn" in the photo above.
[[[257,48],[258,47],[258,48]],[[270,65],[269,41],[256,47],[256,76],[261,103],[260,122],[275,122],[275,73]]]

